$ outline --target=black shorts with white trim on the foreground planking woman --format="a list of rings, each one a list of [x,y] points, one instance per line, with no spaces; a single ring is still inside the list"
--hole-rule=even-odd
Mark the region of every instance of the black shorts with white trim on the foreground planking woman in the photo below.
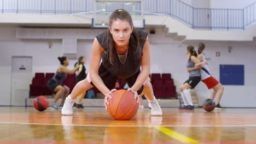
[[[127,84],[129,87],[132,87],[134,85],[134,83],[137,80],[138,75],[141,73],[141,70],[138,70],[136,74],[128,77],[127,79],[125,79],[127,81]],[[108,89],[113,89],[115,87],[115,82],[117,81],[118,77],[111,74],[108,69],[106,69],[102,63],[100,65],[100,68],[98,69],[98,75],[101,77],[102,81],[104,82],[104,85],[106,85],[106,87]],[[95,87],[94,83],[92,83],[91,81],[91,77],[90,77],[90,73],[88,73],[87,75],[87,80],[91,83],[92,86]],[[141,88],[137,91],[138,94],[141,94],[143,91],[144,85],[141,86]]]

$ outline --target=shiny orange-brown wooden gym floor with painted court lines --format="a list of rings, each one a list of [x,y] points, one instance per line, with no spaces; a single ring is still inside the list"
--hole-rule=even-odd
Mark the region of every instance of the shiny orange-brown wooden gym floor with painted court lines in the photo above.
[[[74,109],[73,116],[0,107],[0,143],[256,143],[256,109],[162,110],[162,117],[144,108],[115,121],[103,107]]]

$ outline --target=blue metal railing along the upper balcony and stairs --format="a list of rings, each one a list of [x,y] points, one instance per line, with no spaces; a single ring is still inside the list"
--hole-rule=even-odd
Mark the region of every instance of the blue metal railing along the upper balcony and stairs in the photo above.
[[[118,8],[131,9],[119,4],[108,5],[106,11]],[[94,0],[0,0],[0,13],[74,14],[93,9]],[[179,0],[147,0],[144,11],[170,15],[192,28],[245,29],[256,21],[256,2],[243,9],[208,9],[194,8]]]

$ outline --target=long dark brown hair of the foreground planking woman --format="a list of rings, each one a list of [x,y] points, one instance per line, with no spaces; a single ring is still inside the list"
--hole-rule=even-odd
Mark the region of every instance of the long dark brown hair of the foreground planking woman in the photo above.
[[[124,9],[117,9],[115,10],[110,16],[109,16],[109,27],[112,26],[112,23],[114,20],[127,20],[131,27],[133,26],[133,22],[132,22],[132,18],[131,18],[131,15]],[[110,33],[110,29],[107,29],[107,33],[106,35],[104,35],[104,38],[103,40],[106,40],[106,48],[107,48],[107,55],[108,55],[108,60],[110,62],[110,64],[114,64],[114,49],[115,49],[115,42],[114,42],[114,39],[112,37],[112,34]],[[136,43],[137,43],[137,49],[139,51],[139,35],[138,35],[138,32],[136,30],[136,28],[133,26],[133,30],[132,30],[132,33],[134,34],[135,36],[135,40],[136,40]]]

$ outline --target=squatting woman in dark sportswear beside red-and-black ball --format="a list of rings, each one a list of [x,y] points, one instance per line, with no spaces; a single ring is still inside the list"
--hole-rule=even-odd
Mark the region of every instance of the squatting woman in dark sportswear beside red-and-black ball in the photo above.
[[[67,97],[67,95],[69,94],[69,88],[65,85],[62,84],[63,80],[66,79],[67,74],[74,74],[75,71],[79,68],[79,66],[75,67],[72,70],[69,70],[67,68],[69,62],[68,62],[68,58],[67,57],[58,57],[61,65],[60,67],[57,69],[55,75],[53,76],[52,79],[50,79],[47,83],[48,88],[55,92],[56,95],[54,97],[53,100],[53,105],[50,105],[50,107],[52,109],[61,109],[64,101]],[[61,100],[61,105],[57,106],[57,100],[59,100],[59,98],[62,98]]]

